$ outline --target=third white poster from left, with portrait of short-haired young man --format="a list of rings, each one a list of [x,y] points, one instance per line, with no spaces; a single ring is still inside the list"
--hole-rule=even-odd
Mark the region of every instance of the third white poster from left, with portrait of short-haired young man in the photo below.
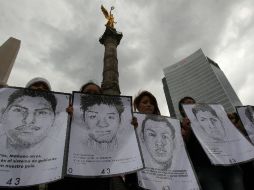
[[[186,154],[179,120],[135,113],[145,168],[138,183],[152,190],[198,190],[199,185]]]

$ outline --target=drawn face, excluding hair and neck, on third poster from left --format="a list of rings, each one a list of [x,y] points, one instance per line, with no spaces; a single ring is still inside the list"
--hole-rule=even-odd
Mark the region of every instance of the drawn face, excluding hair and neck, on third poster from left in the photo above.
[[[147,120],[144,142],[153,160],[159,164],[171,162],[174,140],[170,127],[165,122]]]

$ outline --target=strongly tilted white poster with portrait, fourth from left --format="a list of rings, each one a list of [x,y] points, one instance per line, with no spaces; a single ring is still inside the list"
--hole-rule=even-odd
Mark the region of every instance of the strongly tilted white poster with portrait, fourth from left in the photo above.
[[[254,158],[253,145],[229,120],[222,105],[183,105],[191,128],[214,165],[232,165]]]

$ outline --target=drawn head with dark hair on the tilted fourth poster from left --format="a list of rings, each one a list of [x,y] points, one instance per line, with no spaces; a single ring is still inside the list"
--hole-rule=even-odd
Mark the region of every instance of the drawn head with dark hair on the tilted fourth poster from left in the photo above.
[[[223,122],[215,110],[207,104],[197,104],[192,108],[202,133],[216,141],[222,141],[226,137]]]

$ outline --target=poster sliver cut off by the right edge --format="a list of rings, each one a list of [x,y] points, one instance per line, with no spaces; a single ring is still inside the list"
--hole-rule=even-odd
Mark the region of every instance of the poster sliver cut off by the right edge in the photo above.
[[[239,106],[236,109],[251,142],[254,144],[254,106]]]

